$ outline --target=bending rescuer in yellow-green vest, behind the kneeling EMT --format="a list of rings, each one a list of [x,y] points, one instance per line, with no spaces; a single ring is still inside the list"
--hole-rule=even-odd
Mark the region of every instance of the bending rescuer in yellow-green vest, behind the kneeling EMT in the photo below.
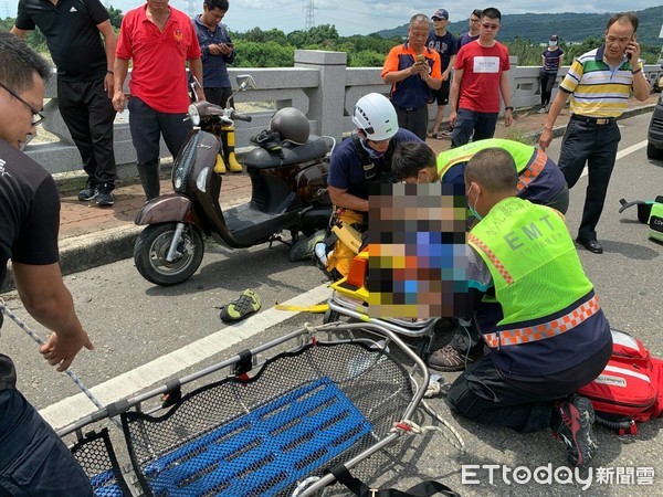
[[[502,148],[514,158],[518,183],[516,197],[540,205],[557,209],[562,214],[569,207],[569,189],[564,175],[546,154],[519,141],[490,138],[473,141],[462,147],[445,150],[438,156],[436,163],[421,160],[403,160],[392,166],[396,181],[408,183],[463,184],[465,165],[480,150]]]

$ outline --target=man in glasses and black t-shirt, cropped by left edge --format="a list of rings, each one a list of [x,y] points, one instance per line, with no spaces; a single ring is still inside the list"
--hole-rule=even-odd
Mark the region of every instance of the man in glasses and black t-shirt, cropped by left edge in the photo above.
[[[49,73],[46,62],[22,40],[0,33],[0,285],[11,260],[25,309],[53,330],[40,353],[64,371],[81,348],[93,345],[60,272],[55,182],[21,152],[43,120],[39,109]],[[0,353],[0,496],[92,496],[74,456],[15,383],[13,362]]]

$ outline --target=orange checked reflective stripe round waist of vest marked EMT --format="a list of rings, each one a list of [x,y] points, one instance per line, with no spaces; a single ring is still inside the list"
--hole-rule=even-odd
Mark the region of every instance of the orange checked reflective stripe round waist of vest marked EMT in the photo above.
[[[558,319],[526,328],[506,329],[487,334],[484,335],[484,340],[493,349],[545,340],[546,338],[552,338],[576,328],[580,322],[597,314],[599,309],[599,297],[594,295],[591,299]]]

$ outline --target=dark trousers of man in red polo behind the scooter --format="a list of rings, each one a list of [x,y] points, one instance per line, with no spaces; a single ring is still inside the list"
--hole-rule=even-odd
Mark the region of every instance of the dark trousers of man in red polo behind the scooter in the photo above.
[[[175,159],[191,130],[191,121],[185,120],[187,114],[160,113],[135,96],[129,98],[127,108],[138,168],[158,168],[161,136]]]

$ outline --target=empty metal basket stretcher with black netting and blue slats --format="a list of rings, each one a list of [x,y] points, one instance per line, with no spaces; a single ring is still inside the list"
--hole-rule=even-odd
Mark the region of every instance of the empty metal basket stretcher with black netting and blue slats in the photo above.
[[[296,345],[293,346],[293,343]],[[254,364],[259,355],[274,351],[274,349],[280,349],[282,351],[272,358],[261,360],[259,363]],[[338,355],[340,355],[340,358],[336,357]],[[396,356],[398,356],[398,358]],[[302,372],[302,370],[308,368],[313,371],[313,376],[301,382],[293,379],[284,392],[277,392],[277,394],[274,395],[267,394],[264,398],[264,401],[257,401],[252,409],[246,411],[246,413],[231,416],[230,421],[223,420],[218,426],[211,426],[203,430],[201,433],[193,433],[191,440],[187,440],[178,446],[168,446],[162,451],[157,451],[157,453],[154,454],[154,457],[150,456],[149,461],[139,461],[140,457],[136,455],[137,446],[138,452],[140,446],[143,448],[147,447],[146,450],[149,452],[155,450],[154,446],[158,445],[158,441],[150,440],[149,435],[147,435],[150,423],[156,423],[155,426],[158,430],[152,430],[152,432],[158,433],[160,436],[161,432],[167,432],[167,430],[161,429],[158,423],[164,422],[164,420],[166,420],[165,422],[167,423],[175,419],[179,413],[178,410],[185,405],[186,402],[191,401],[191,399],[197,399],[197,395],[206,395],[209,392],[213,392],[214,389],[227,388],[231,383],[239,392],[251,387],[255,387],[255,389],[257,389],[256,391],[264,388],[269,390],[270,373],[273,372],[276,374],[278,372],[277,369],[274,369],[278,366],[278,361],[282,361],[283,364],[287,366],[288,363],[286,361],[291,360],[299,361],[298,363],[303,364],[298,368],[291,368],[294,369],[294,374],[306,374],[305,372]],[[406,363],[408,363],[407,367],[404,366]],[[333,367],[337,369],[333,369]],[[223,377],[220,381],[208,383],[187,393],[181,400],[178,400],[173,406],[158,406],[150,412],[143,412],[144,403],[147,403],[150,400],[154,402],[156,398],[160,398],[162,394],[179,391],[181,387],[193,381],[206,379],[207,376],[222,371],[227,368],[232,368],[233,374]],[[325,370],[325,368],[332,369]],[[397,395],[393,392],[390,393],[392,396],[389,398],[388,401],[385,400],[376,405],[368,404],[368,401],[365,400],[365,398],[368,396],[366,394],[367,391],[379,390],[376,389],[376,385],[379,387],[380,382],[382,385],[392,383],[391,379],[387,381],[388,377],[382,377],[387,370],[397,374],[399,381],[403,382],[403,385],[407,385],[406,389],[398,392],[398,398],[401,400],[400,404],[399,402],[394,402]],[[245,376],[246,373],[253,374],[253,378],[248,379]],[[315,378],[314,373],[319,373],[319,378]],[[261,381],[262,385],[260,383]],[[361,381],[366,384],[361,383]],[[212,445],[208,443],[208,438],[222,440],[224,443],[231,441],[227,443],[227,445],[232,445],[233,443],[235,445],[241,445],[238,444],[238,442],[242,441],[241,436],[243,435],[241,435],[241,433],[253,433],[251,436],[254,436],[255,433],[257,433],[255,430],[259,429],[248,427],[245,429],[246,432],[238,431],[236,433],[240,433],[240,435],[236,435],[236,433],[229,433],[233,432],[233,430],[236,431],[235,429],[240,425],[249,426],[256,420],[263,425],[266,425],[267,430],[276,432],[276,437],[287,438],[287,436],[291,436],[290,432],[297,432],[297,436],[302,438],[302,433],[305,429],[295,426],[301,420],[297,422],[293,421],[297,415],[292,414],[291,419],[288,417],[288,415],[291,415],[288,413],[291,413],[293,409],[292,405],[294,404],[304,406],[303,409],[305,410],[309,409],[307,408],[307,404],[311,404],[311,412],[306,411],[301,416],[305,420],[302,422],[309,424],[314,423],[313,426],[315,427],[315,420],[318,417],[325,419],[326,424],[324,425],[324,430],[316,429],[311,431],[311,434],[305,434],[306,436],[302,438],[303,442],[285,440],[285,446],[311,445],[311,451],[314,453],[313,458],[319,457],[325,466],[308,472],[309,466],[302,465],[302,475],[297,476],[295,483],[291,482],[287,485],[278,483],[281,487],[274,487],[278,490],[264,494],[296,495],[297,497],[305,497],[315,495],[324,487],[335,483],[334,476],[327,473],[330,469],[328,465],[333,467],[343,464],[346,468],[351,469],[359,463],[369,458],[376,452],[394,443],[400,436],[399,433],[385,430],[385,426],[378,427],[377,422],[370,419],[370,416],[377,415],[377,420],[381,423],[387,419],[389,423],[410,419],[423,396],[428,382],[429,372],[421,358],[403,343],[398,335],[389,328],[379,326],[375,322],[334,322],[317,327],[305,327],[251,350],[245,350],[231,359],[202,369],[193,374],[172,380],[149,392],[123,399],[63,427],[59,431],[59,434],[61,437],[65,437],[76,433],[80,435],[76,446],[80,447],[85,442],[85,436],[81,436],[84,429],[90,429],[95,423],[107,422],[108,417],[119,415],[123,422],[125,443],[127,444],[133,463],[133,472],[128,472],[129,474],[125,476],[129,476],[127,479],[131,482],[138,480],[139,483],[139,485],[137,485],[139,489],[131,488],[131,494],[147,496],[190,495],[181,493],[171,494],[164,488],[160,488],[158,493],[155,493],[152,485],[157,484],[155,483],[155,479],[150,479],[150,472],[158,476],[165,475],[166,473],[159,473],[162,470],[161,468],[168,466],[168,464],[171,464],[172,461],[178,458],[177,463],[171,464],[172,468],[175,468],[172,469],[173,473],[183,470],[182,468],[187,464],[194,465],[191,461],[201,457],[201,451],[207,451],[209,453],[206,447]],[[274,388],[277,390],[277,387]],[[394,385],[393,388],[397,389],[398,385]],[[316,400],[317,398],[319,399]],[[246,399],[240,400],[244,402]],[[319,405],[314,405],[315,402],[319,402]],[[209,405],[218,405],[218,402]],[[386,410],[392,409],[392,406],[399,409],[400,412],[386,412]],[[198,411],[207,412],[207,408],[196,409]],[[332,409],[332,411],[329,411],[329,409]],[[186,413],[186,411],[182,412]],[[273,413],[277,413],[278,416],[285,420],[284,427],[276,426],[276,417],[274,417],[276,414]],[[262,416],[266,416],[266,424],[263,422],[264,420],[262,420]],[[186,420],[186,416],[183,419]],[[322,432],[326,431],[329,424],[337,424],[340,429],[350,430],[351,433],[348,435],[340,435],[340,443],[336,444],[337,448],[332,451],[330,454],[320,455],[323,450],[327,450],[327,447],[334,445],[334,443],[328,443],[322,438],[326,436],[326,433]],[[183,427],[186,429],[187,426]],[[178,429],[182,430],[182,426],[178,425]],[[378,429],[380,430],[380,433],[378,433]],[[242,430],[244,429],[242,427]],[[260,430],[262,430],[262,426]],[[144,433],[146,434],[145,440],[141,438]],[[251,436],[248,435],[248,440],[251,438]],[[105,440],[107,441],[107,437]],[[355,442],[355,445],[359,448],[355,446],[345,447],[345,445]],[[106,445],[109,446],[109,444]],[[206,445],[206,447],[202,447],[202,445]],[[266,441],[266,438],[264,441],[263,438],[260,438],[260,442],[249,442],[244,445],[245,447],[241,451],[242,454],[236,456],[236,461],[240,461],[241,457],[244,456],[244,453],[250,453],[250,451],[253,451],[254,448],[255,451],[264,452],[264,446],[269,445],[269,441]],[[112,451],[112,448],[113,447],[110,446],[109,450]],[[201,451],[199,451],[199,448]],[[352,448],[354,452],[349,448]],[[213,450],[217,451],[215,447]],[[278,451],[283,451],[283,448],[277,448],[276,452]],[[346,454],[348,454],[348,456],[346,456]],[[204,457],[208,455],[204,455]],[[271,454],[265,457],[273,458],[274,455]],[[347,461],[346,457],[348,457]],[[114,454],[110,454],[110,459],[115,459]],[[269,462],[271,462],[271,459]],[[207,477],[208,474],[211,474],[212,472],[219,473],[220,468],[224,469],[223,466],[225,465],[227,463],[224,461],[219,459],[212,469],[202,468],[201,466],[201,468],[196,470],[199,473],[202,472],[201,474]],[[85,468],[85,464],[83,464],[83,466]],[[130,495],[127,494],[127,486],[124,483],[123,475],[118,474],[117,466],[117,464],[114,464],[115,472],[112,476],[115,476],[116,479],[110,484],[107,484],[109,473],[106,470],[110,468],[103,469],[99,474],[88,473],[93,482],[106,483],[103,488],[95,488],[96,495]],[[265,473],[267,470],[263,466],[264,465],[259,465],[259,473]],[[131,475],[130,473],[134,474]],[[311,476],[304,477],[305,473],[308,473]],[[189,479],[192,478],[191,475],[188,475],[187,477]],[[109,486],[112,488],[108,488]],[[285,491],[286,487],[287,491]],[[212,489],[210,490],[210,488]],[[214,494],[213,488],[215,487],[210,488],[208,488],[209,491],[207,494],[201,493],[199,495],[232,495],[232,497],[236,497],[234,493],[239,487],[238,485],[230,485],[223,487],[228,488],[229,493],[221,490],[219,494]],[[295,489],[294,491],[292,491],[293,488]],[[245,495],[263,495],[263,491],[261,490],[255,494],[249,493]]]

